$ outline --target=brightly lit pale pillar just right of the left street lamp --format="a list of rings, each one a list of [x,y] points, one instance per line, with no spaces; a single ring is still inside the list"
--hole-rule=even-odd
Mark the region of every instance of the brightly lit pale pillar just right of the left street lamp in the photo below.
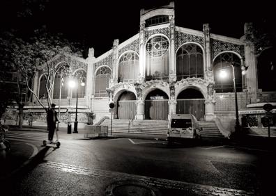
[[[86,105],[92,109],[92,99],[94,95],[94,81],[95,81],[95,70],[94,70],[94,49],[90,48],[89,49],[89,56],[86,58],[87,62],[87,73],[86,73]]]

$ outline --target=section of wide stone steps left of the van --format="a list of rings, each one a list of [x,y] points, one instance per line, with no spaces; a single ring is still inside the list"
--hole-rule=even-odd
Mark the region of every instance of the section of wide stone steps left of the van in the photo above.
[[[151,135],[166,135],[168,120],[112,120],[112,133],[137,133]],[[100,125],[108,126],[111,131],[111,120],[106,119]]]

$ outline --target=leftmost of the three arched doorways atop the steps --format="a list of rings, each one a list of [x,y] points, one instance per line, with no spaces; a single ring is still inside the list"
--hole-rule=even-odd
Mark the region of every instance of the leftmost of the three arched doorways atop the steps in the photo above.
[[[125,91],[118,97],[117,114],[119,119],[134,119],[137,113],[136,96]]]

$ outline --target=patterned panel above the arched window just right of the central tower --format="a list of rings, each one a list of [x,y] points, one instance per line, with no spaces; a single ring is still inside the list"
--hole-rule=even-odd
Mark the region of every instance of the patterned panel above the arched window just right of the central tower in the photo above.
[[[176,31],[174,44],[175,51],[178,49],[178,47],[180,47],[182,44],[185,44],[186,42],[197,42],[201,44],[202,47],[204,47],[204,37]]]

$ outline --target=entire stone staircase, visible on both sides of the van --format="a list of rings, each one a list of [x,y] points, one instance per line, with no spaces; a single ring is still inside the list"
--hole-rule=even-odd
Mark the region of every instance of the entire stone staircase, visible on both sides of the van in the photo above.
[[[168,120],[112,120],[112,133],[137,133],[151,135],[167,135]],[[100,125],[108,126],[111,131],[111,120],[106,119]],[[201,138],[225,138],[217,128],[215,121],[199,121]]]

